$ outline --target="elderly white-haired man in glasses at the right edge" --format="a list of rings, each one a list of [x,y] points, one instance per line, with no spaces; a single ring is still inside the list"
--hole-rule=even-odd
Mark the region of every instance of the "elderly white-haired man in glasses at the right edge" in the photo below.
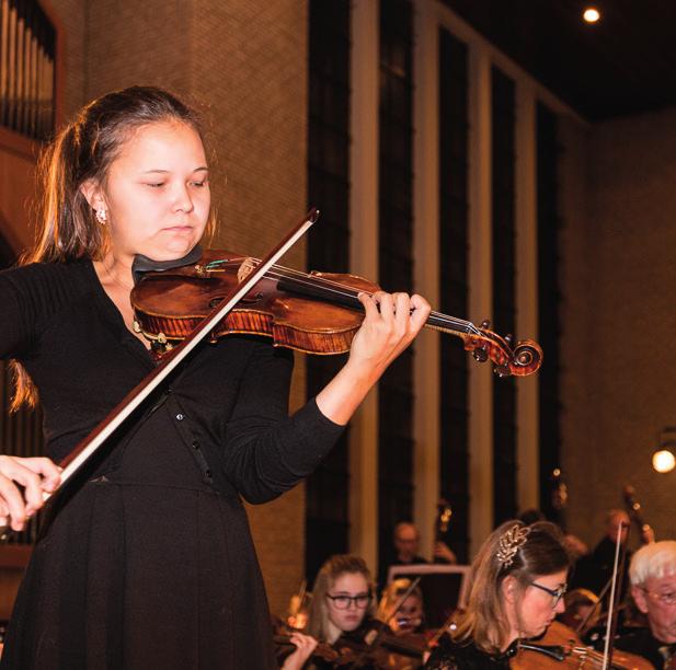
[[[641,547],[631,559],[629,579],[649,627],[619,637],[615,646],[642,656],[661,670],[672,668],[676,657],[676,541]]]

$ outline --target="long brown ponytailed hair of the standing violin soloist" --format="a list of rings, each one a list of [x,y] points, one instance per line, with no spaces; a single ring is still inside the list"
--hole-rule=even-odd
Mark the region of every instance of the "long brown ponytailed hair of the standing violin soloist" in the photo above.
[[[89,181],[104,184],[111,164],[133,132],[161,122],[186,124],[204,142],[197,113],[162,89],[131,86],[107,93],[82,107],[41,157],[38,178],[43,195],[37,235],[21,265],[103,257],[108,244],[107,229],[96,221],[81,187]],[[211,212],[207,230],[213,229]],[[12,361],[12,411],[23,404],[35,406],[37,390],[28,373],[18,361]]]

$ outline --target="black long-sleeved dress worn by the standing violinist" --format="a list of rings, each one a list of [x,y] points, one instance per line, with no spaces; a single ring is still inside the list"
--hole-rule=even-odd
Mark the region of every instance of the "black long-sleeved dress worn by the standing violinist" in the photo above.
[[[36,383],[58,461],[153,362],[89,261],[1,273],[0,304],[0,357]],[[284,349],[232,336],[193,354],[56,506],[2,668],[276,667],[240,496],[294,486],[341,427],[313,401],[287,416]]]

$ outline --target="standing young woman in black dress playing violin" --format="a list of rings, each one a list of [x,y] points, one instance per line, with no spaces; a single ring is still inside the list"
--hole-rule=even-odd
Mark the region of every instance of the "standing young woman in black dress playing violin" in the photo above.
[[[58,486],[53,461],[154,369],[133,330],[135,256],[180,262],[211,219],[197,117],[158,89],[88,104],[43,175],[37,244],[0,275],[0,356],[19,365],[19,403],[39,391],[50,459],[0,458],[0,516],[14,530]],[[240,498],[265,503],[310,474],[429,311],[405,293],[359,300],[366,316],[347,362],[291,417],[287,350],[232,335],[193,351],[66,486],[2,668],[275,667]]]

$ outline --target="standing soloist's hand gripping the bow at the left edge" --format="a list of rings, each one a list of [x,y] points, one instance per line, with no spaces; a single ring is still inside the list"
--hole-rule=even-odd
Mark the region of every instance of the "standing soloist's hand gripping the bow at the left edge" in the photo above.
[[[0,455],[0,525],[9,521],[12,530],[23,530],[45,504],[44,494],[54,493],[60,478],[58,466],[49,459]]]

